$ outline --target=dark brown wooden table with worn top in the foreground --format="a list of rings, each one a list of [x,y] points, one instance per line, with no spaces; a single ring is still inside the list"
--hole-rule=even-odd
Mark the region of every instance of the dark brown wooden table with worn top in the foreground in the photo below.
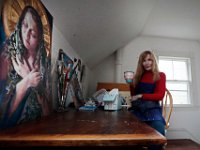
[[[70,110],[0,131],[0,147],[165,144],[166,138],[127,110]]]

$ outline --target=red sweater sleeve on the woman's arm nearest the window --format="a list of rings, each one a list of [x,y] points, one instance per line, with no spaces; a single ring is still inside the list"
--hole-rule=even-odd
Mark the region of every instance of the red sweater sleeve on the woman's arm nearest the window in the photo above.
[[[145,100],[162,100],[165,96],[166,90],[166,76],[163,72],[160,72],[160,80],[156,82],[156,88],[152,94],[142,94],[142,99]]]

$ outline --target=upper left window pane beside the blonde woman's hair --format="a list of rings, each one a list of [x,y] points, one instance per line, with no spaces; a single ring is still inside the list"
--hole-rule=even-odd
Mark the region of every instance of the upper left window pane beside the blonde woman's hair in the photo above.
[[[167,80],[173,80],[173,66],[171,60],[159,60],[159,70],[166,74]],[[166,69],[167,67],[167,69]]]

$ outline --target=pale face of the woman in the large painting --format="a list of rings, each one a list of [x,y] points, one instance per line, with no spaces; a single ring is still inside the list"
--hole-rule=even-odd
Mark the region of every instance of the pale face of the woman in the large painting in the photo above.
[[[39,33],[37,23],[30,12],[26,13],[22,21],[21,35],[26,49],[35,51],[39,43]]]

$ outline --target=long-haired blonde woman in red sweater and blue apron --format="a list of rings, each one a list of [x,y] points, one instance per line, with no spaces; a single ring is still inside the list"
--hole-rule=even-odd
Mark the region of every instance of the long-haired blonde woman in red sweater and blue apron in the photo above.
[[[141,121],[165,135],[165,120],[159,101],[165,95],[166,76],[163,72],[159,72],[156,58],[151,51],[140,54],[130,89],[132,103],[130,111]]]

